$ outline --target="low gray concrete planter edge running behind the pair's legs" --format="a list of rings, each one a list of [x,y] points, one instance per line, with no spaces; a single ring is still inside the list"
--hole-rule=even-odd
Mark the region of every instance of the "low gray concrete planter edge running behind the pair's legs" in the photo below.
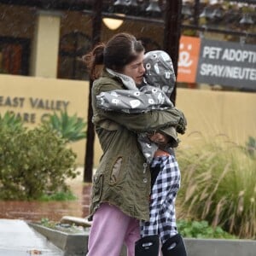
[[[84,256],[87,253],[89,231],[68,234],[39,224],[30,226],[61,248],[65,255]],[[253,240],[184,238],[184,242],[189,256],[256,256],[256,241]],[[120,256],[125,255],[126,249],[123,247]]]

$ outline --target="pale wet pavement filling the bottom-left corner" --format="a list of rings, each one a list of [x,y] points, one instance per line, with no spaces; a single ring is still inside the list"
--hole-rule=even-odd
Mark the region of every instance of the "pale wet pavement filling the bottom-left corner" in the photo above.
[[[63,256],[58,247],[26,221],[0,218],[0,256]]]

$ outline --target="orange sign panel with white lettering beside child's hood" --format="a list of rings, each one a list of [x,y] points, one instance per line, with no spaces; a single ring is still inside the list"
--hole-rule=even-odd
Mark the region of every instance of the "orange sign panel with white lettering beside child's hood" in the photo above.
[[[195,83],[200,44],[200,38],[181,37],[177,62],[177,82]]]

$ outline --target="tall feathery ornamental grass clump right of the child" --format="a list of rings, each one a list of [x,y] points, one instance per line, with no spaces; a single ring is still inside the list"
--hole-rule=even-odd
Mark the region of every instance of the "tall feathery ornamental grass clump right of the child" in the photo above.
[[[235,143],[218,138],[179,148],[182,186],[179,218],[207,220],[241,238],[255,238],[256,160]]]

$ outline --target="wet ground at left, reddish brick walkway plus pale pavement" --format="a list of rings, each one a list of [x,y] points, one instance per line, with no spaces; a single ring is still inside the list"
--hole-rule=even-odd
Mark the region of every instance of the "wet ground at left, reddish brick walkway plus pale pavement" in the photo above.
[[[0,201],[0,256],[48,255],[63,252],[26,224],[42,218],[60,221],[63,216],[84,218],[89,213],[90,183],[82,177],[69,181],[74,201]]]

